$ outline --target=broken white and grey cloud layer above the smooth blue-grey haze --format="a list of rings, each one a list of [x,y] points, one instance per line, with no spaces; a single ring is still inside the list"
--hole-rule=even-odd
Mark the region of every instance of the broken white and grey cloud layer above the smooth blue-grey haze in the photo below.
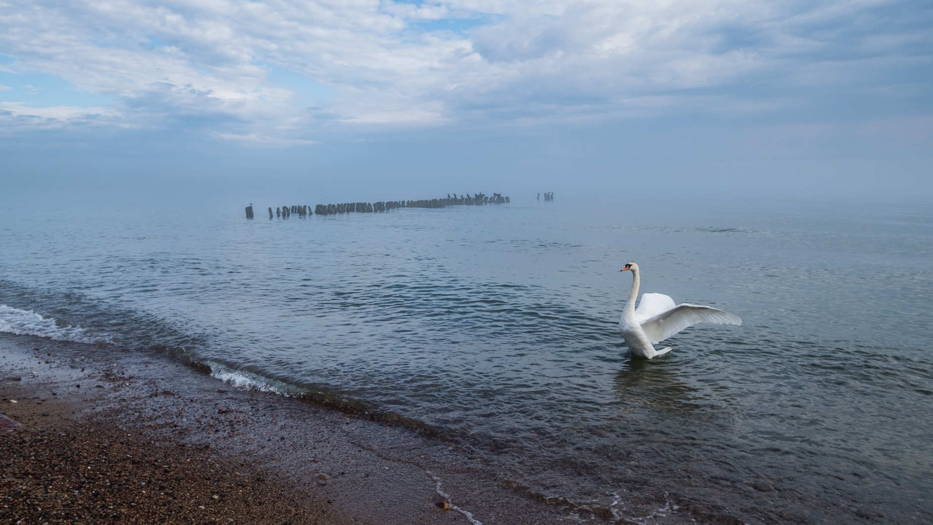
[[[0,6],[0,54],[17,60],[4,70],[41,71],[115,97],[121,102],[108,118],[118,115],[121,125],[193,119],[230,139],[303,141],[321,122],[646,115],[711,100],[754,111],[793,104],[806,96],[801,86],[814,82],[839,90],[898,83],[897,75],[874,75],[879,61],[911,58],[928,67],[933,41],[930,24],[915,16],[920,4],[870,0],[420,6],[7,0]],[[465,31],[423,25],[443,20],[482,24]],[[295,106],[295,93],[276,86],[266,64],[298,72],[336,96],[312,109]],[[760,94],[769,90],[783,93]],[[763,96],[770,101],[763,104]],[[47,113],[59,122],[78,118]]]

